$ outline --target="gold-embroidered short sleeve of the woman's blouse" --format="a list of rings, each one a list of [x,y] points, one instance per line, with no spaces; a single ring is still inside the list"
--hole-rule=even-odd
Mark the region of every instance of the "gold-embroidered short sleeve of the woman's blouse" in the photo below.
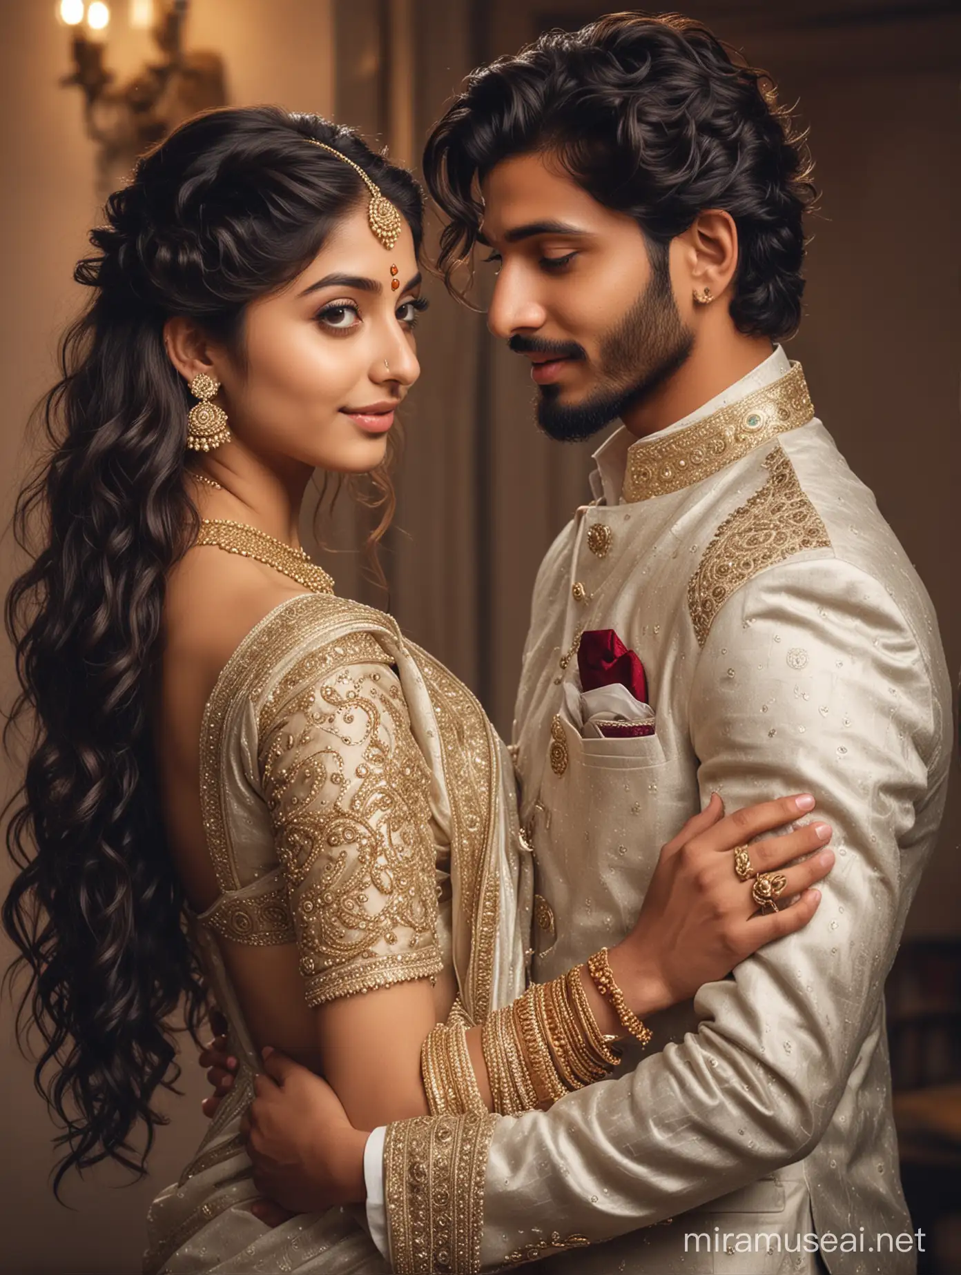
[[[332,644],[339,671],[297,662],[260,743],[309,1005],[442,969],[430,771],[383,649],[359,672],[361,636]]]

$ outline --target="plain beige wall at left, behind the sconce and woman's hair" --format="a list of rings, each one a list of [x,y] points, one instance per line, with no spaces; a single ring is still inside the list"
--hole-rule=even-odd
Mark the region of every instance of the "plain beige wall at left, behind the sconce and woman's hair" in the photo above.
[[[0,307],[0,523],[9,521],[20,469],[27,414],[52,379],[56,335],[78,303],[70,282],[96,219],[93,149],[80,122],[80,99],[57,79],[68,70],[68,37],[54,0],[3,0],[0,42],[0,244],[4,246]],[[112,0],[123,19],[125,0]],[[148,37],[125,33],[117,20],[111,64],[130,74],[152,54]],[[194,0],[189,47],[216,48],[226,61],[232,103],[279,102],[331,113],[333,54],[329,0]],[[13,570],[9,541],[0,548],[0,588]],[[11,690],[3,646],[0,695]],[[0,782],[9,784],[9,769]],[[8,878],[0,861],[0,889]],[[9,947],[0,942],[0,963]],[[97,1172],[71,1182],[54,1204],[52,1164],[42,1103],[29,1066],[11,1039],[9,1001],[0,1005],[0,1270],[10,1275],[130,1275],[139,1270],[144,1216],[151,1197],[172,1181],[199,1141],[202,1076],[193,1053],[184,1099],[171,1099],[172,1127],[161,1130],[151,1177],[128,1190],[105,1190],[121,1176]]]

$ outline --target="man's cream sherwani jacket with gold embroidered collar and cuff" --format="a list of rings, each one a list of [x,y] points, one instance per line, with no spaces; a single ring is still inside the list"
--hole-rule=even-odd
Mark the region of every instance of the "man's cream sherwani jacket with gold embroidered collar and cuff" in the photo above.
[[[597,463],[597,501],[541,567],[517,701],[535,977],[629,931],[660,847],[713,790],[729,810],[814,792],[837,862],[801,933],[652,1020],[619,1076],[498,1121],[479,1244],[445,1269],[808,1271],[809,1244],[784,1248],[850,1232],[830,1271],[911,1271],[870,1248],[911,1230],[882,992],[948,771],[930,602],[780,349]],[[585,740],[565,715],[578,635],[609,627],[647,669],[652,737]],[[391,1228],[392,1200],[431,1197],[430,1156],[405,1172],[385,1162]]]

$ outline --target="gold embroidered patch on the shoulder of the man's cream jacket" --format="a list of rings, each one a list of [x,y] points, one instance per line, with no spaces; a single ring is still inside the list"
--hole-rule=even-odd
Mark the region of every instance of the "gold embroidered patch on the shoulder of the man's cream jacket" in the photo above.
[[[725,519],[688,583],[688,609],[703,646],[717,612],[764,567],[804,550],[831,548],[821,515],[778,446],[764,456],[767,482]]]

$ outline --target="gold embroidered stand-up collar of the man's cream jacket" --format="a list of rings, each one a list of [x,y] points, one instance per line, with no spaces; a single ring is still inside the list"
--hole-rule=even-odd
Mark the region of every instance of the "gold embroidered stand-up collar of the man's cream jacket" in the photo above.
[[[800,363],[786,376],[730,403],[660,441],[634,442],[628,451],[623,496],[628,504],[666,496],[710,478],[749,451],[807,425],[814,416]]]

